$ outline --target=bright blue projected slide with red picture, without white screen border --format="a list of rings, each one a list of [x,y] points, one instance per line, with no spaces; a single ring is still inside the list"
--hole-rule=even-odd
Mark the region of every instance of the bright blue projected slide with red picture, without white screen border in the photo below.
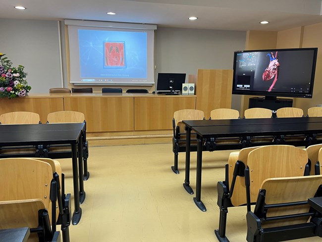
[[[147,78],[147,33],[78,30],[82,80],[111,81]]]

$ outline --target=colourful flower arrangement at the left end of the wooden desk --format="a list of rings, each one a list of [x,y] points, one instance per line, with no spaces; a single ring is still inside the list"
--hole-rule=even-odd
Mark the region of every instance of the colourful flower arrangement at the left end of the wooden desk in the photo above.
[[[12,62],[0,53],[0,98],[16,98],[28,95],[31,86],[26,81],[24,66],[12,66]]]

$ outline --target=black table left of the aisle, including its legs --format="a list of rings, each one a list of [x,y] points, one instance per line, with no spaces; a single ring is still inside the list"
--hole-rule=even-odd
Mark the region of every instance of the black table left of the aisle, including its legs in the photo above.
[[[47,124],[1,124],[0,146],[54,145],[70,144],[72,151],[73,185],[75,211],[72,224],[79,223],[82,216],[80,203],[86,193],[83,182],[83,130],[85,123],[47,123]],[[78,164],[77,164],[78,149]],[[12,154],[12,157],[15,155]],[[77,170],[78,168],[78,170]],[[79,176],[78,176],[79,172]],[[79,178],[79,183],[78,183]]]

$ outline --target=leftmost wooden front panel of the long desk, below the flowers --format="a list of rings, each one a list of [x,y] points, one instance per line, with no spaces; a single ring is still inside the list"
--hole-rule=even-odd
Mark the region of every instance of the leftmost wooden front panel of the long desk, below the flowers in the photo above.
[[[0,115],[17,111],[33,112],[39,114],[42,123],[46,123],[48,114],[64,110],[64,103],[62,97],[1,98],[0,107]]]

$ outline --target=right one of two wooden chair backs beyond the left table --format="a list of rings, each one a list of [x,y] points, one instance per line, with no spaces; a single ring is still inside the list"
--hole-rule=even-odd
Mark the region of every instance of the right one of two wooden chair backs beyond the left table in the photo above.
[[[49,123],[84,122],[85,116],[83,113],[76,111],[58,111],[48,114],[47,121]]]

